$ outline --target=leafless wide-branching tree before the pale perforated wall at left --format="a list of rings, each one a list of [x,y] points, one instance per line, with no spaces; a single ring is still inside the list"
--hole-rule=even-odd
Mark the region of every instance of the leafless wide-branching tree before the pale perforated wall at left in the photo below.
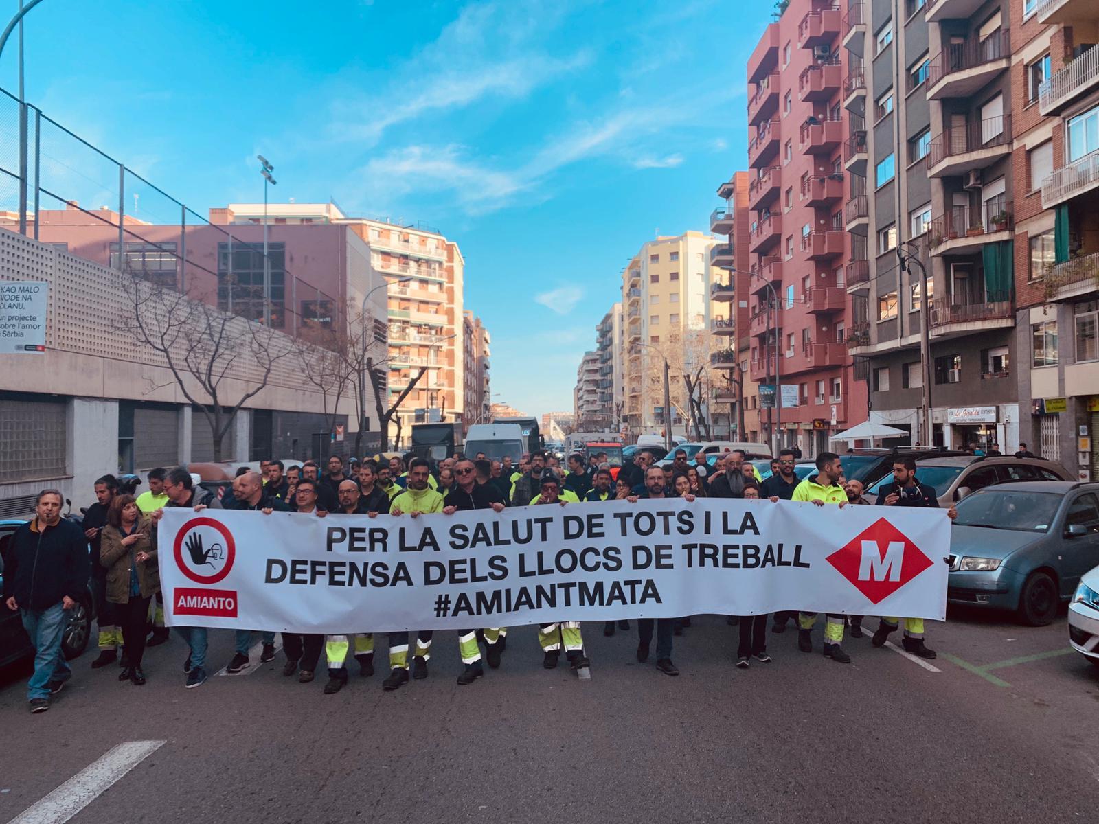
[[[123,276],[122,288],[126,304],[119,330],[164,358],[173,380],[154,388],[179,387],[206,416],[214,460],[222,460],[222,442],[236,413],[266,388],[276,361],[290,353],[291,339],[174,288],[151,283],[141,272]]]

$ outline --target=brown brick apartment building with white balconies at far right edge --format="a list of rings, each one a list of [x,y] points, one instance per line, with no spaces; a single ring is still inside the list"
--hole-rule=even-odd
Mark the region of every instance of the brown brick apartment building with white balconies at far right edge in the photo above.
[[[1012,0],[1020,437],[1099,478],[1099,3]]]

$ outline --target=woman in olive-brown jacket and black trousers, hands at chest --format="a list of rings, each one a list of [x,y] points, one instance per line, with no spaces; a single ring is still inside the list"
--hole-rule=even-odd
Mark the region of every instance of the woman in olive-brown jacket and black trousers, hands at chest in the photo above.
[[[107,568],[107,601],[115,604],[127,667],[119,675],[136,687],[145,683],[141,659],[145,653],[145,619],[148,602],[160,590],[156,549],[148,520],[137,510],[133,495],[116,495],[107,512],[101,533],[99,563]]]

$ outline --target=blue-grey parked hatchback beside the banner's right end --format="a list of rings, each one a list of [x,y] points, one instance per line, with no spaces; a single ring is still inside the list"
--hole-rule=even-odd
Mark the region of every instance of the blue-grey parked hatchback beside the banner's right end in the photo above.
[[[1019,481],[957,504],[950,603],[1011,610],[1045,626],[1099,558],[1099,483]]]

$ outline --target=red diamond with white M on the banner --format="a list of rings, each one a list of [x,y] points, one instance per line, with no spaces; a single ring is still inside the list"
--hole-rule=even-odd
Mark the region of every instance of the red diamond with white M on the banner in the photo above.
[[[932,564],[884,517],[828,556],[828,563],[873,603],[884,601]]]

